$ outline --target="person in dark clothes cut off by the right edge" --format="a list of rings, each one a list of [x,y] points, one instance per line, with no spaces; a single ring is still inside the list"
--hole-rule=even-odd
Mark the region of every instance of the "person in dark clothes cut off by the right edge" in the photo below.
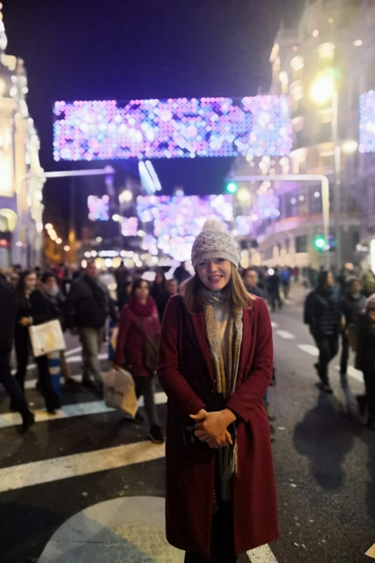
[[[355,367],[364,375],[369,415],[367,426],[375,430],[375,293],[367,299],[366,312],[357,320]]]

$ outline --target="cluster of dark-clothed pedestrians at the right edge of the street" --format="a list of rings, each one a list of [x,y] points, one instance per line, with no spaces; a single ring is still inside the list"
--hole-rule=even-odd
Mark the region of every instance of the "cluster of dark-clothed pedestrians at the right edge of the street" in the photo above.
[[[355,367],[364,374],[366,390],[364,396],[357,397],[360,412],[367,415],[367,426],[375,430],[374,272],[368,269],[359,279],[350,277],[343,268],[335,279],[331,272],[322,270],[305,301],[304,320],[319,350],[314,367],[322,391],[333,393],[328,367],[338,355],[340,339],[340,384],[344,390],[348,389],[350,350],[355,353]]]

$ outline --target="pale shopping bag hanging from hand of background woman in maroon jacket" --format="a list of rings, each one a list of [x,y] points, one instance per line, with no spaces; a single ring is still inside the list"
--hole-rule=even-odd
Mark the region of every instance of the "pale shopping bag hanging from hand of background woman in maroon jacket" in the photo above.
[[[125,369],[111,369],[110,372],[102,375],[102,379],[106,406],[123,410],[134,418],[138,410],[138,401],[131,374],[125,372]]]

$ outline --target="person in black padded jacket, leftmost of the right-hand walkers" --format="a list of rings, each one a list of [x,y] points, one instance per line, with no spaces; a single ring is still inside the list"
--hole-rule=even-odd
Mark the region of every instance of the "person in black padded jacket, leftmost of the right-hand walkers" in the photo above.
[[[328,365],[338,353],[341,326],[340,298],[333,285],[333,275],[323,270],[316,289],[309,293],[305,303],[305,324],[309,324],[319,348],[319,362],[314,367],[326,393],[333,393],[328,380]]]

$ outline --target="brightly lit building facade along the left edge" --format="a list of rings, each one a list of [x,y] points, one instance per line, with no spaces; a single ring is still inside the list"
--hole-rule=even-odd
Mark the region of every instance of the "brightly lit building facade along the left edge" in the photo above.
[[[0,267],[27,267],[42,255],[42,188],[39,138],[26,103],[22,59],[6,54],[0,8]]]

